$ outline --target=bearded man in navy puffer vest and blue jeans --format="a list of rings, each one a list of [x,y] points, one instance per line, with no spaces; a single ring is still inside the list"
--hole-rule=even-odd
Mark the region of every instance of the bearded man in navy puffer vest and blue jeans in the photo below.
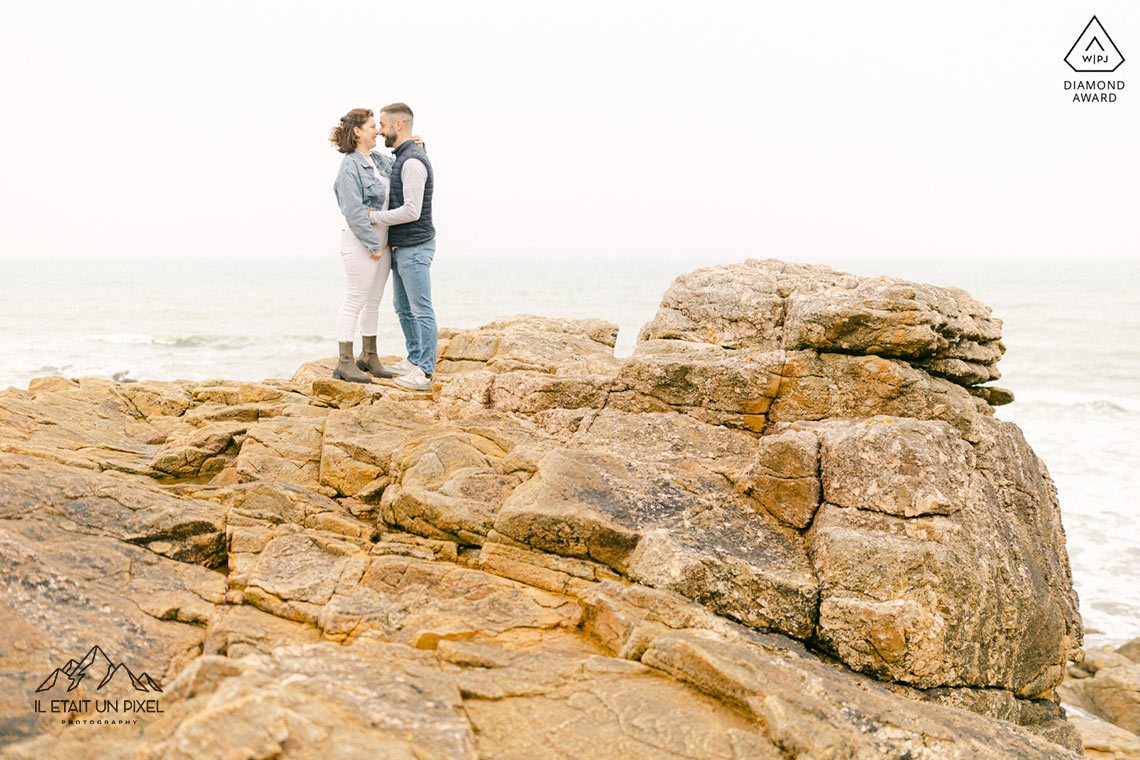
[[[430,391],[439,344],[430,272],[435,255],[435,228],[431,222],[433,175],[427,154],[412,139],[412,108],[402,103],[380,109],[380,133],[384,136],[384,145],[396,148],[396,163],[388,211],[373,211],[369,218],[389,226],[392,304],[408,349],[407,359],[396,366],[407,374],[396,382],[413,391]]]

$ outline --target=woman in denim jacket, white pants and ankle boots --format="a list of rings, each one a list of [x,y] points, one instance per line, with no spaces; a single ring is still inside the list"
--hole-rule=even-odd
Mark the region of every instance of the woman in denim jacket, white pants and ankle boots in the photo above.
[[[333,128],[328,138],[344,154],[333,189],[348,222],[348,229],[341,230],[345,291],[336,316],[340,358],[333,377],[353,383],[370,383],[370,375],[396,375],[380,363],[376,354],[380,297],[384,294],[392,258],[388,247],[388,227],[369,222],[368,212],[388,209],[388,175],[396,161],[373,150],[376,134],[372,111],[353,108],[341,117],[341,123]],[[364,351],[353,361],[352,340],[358,319]]]

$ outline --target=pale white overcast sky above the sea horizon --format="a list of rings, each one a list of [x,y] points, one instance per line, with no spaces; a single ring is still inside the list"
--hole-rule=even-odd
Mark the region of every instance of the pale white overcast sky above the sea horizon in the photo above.
[[[393,100],[449,256],[1140,253],[1135,0],[6,2],[0,60],[0,255],[335,254]]]

